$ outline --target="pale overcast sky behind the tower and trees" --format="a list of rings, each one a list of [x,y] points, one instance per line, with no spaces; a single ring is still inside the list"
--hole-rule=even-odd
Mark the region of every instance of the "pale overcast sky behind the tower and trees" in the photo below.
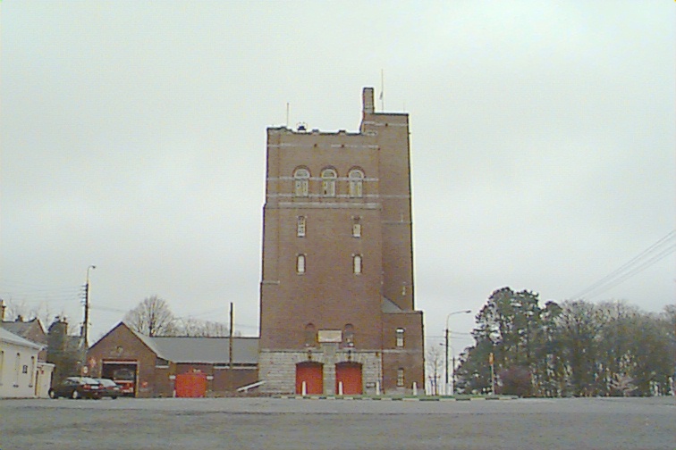
[[[234,302],[256,335],[266,127],[288,103],[356,130],[381,71],[377,109],[410,113],[428,342],[504,286],[675,302],[673,2],[0,8],[0,296],[76,325],[95,264],[92,340],[152,295],[212,321]],[[454,348],[472,325],[451,318]]]

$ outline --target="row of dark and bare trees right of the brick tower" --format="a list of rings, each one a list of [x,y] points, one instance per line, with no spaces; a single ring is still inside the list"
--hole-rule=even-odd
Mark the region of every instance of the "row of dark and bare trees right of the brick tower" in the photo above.
[[[455,372],[461,393],[674,393],[676,304],[661,313],[614,301],[542,304],[537,293],[503,287],[478,312],[472,336]]]

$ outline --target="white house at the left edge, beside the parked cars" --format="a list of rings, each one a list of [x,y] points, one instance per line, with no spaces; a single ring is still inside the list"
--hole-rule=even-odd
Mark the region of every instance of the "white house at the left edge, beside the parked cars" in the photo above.
[[[0,328],[0,397],[44,397],[54,364],[38,362],[39,344]]]

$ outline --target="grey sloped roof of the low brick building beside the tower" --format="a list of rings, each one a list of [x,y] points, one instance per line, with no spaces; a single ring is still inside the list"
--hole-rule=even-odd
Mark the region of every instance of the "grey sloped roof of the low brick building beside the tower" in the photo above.
[[[159,357],[172,362],[230,363],[229,337],[147,337]],[[232,338],[232,363],[258,363],[258,337]]]

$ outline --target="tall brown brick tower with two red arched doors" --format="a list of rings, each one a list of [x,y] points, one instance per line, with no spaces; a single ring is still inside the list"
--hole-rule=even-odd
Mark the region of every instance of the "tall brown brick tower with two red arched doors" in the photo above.
[[[359,132],[267,129],[259,376],[266,392],[424,387],[414,309],[409,116]]]

